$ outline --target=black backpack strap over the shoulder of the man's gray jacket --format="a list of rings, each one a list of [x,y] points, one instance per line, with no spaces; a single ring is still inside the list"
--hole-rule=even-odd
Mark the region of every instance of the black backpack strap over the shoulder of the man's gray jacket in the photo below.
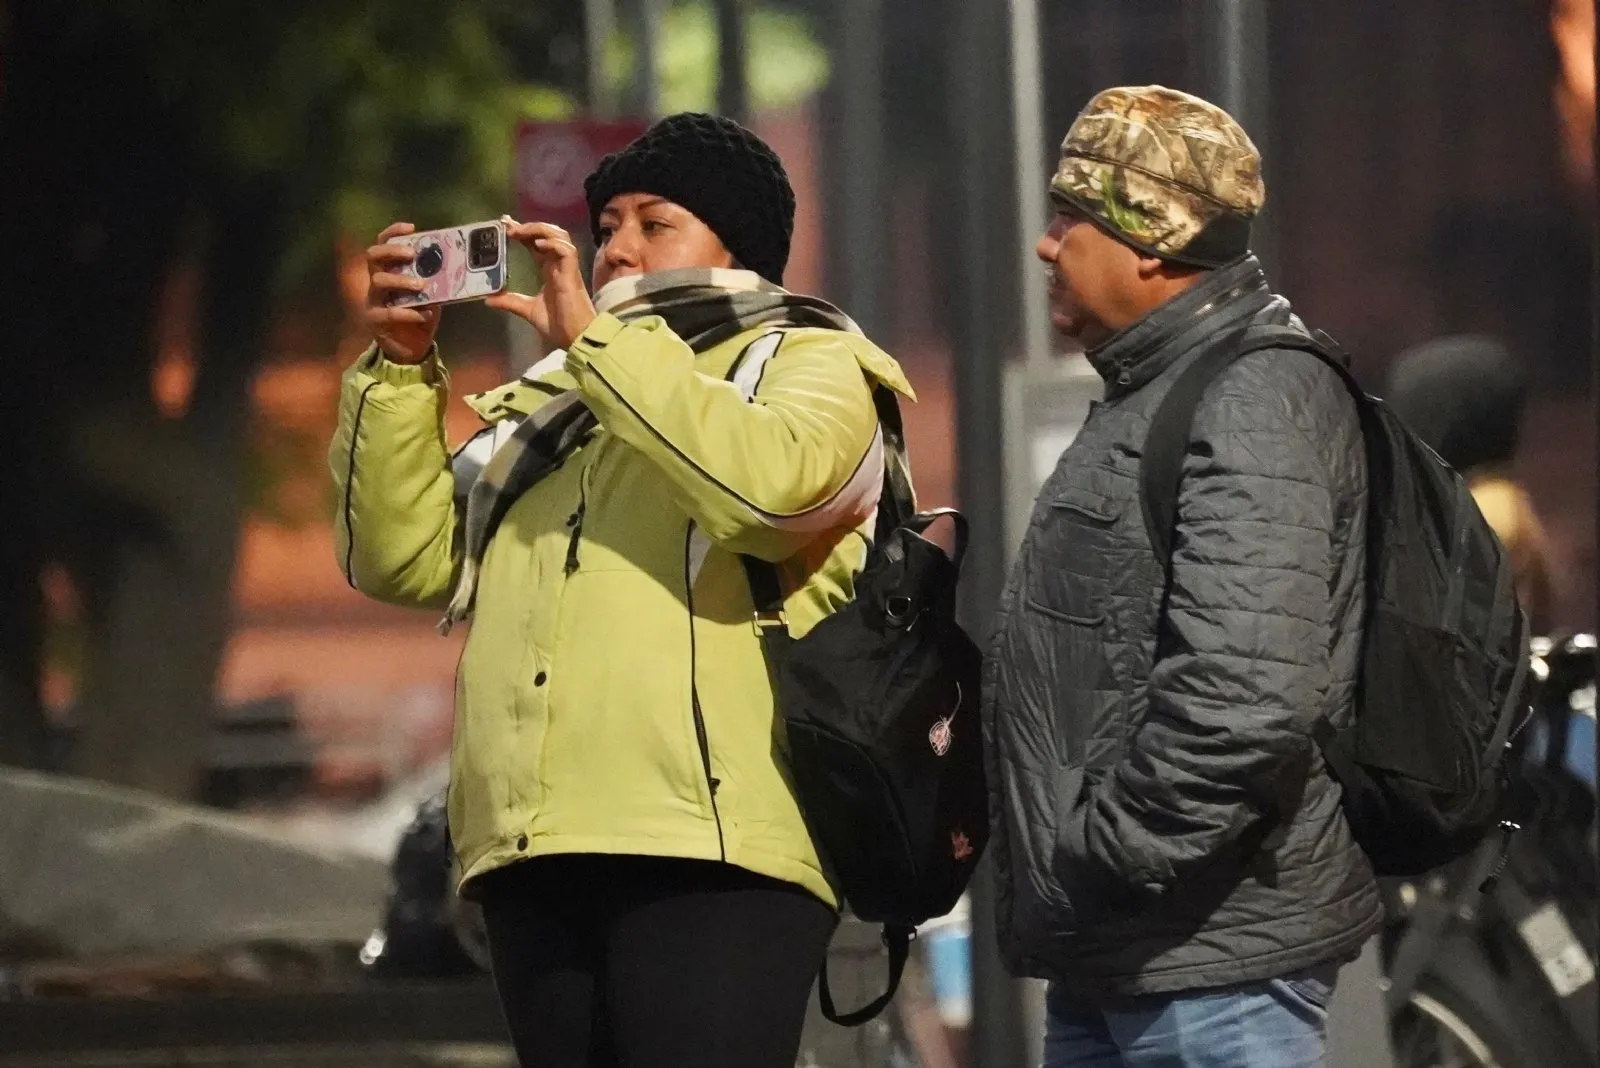
[[[1293,326],[1246,326],[1184,368],[1150,419],[1150,430],[1144,438],[1144,454],[1139,459],[1139,505],[1144,510],[1144,531],[1150,537],[1155,558],[1162,563],[1163,571],[1170,571],[1173,564],[1173,539],[1178,534],[1178,492],[1184,478],[1184,454],[1189,451],[1189,433],[1194,428],[1200,398],[1222,371],[1250,353],[1267,349],[1309,352],[1338,371],[1346,389],[1357,400],[1365,397],[1350,374],[1349,358],[1338,342],[1322,331],[1307,334]]]

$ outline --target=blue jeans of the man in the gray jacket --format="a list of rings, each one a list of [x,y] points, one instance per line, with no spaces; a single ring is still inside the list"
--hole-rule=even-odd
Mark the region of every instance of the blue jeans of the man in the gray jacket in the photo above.
[[[1098,1009],[1050,988],[1045,1068],[1323,1068],[1336,964]]]

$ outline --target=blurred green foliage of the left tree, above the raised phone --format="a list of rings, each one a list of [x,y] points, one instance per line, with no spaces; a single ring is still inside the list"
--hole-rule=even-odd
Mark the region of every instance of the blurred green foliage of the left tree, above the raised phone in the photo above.
[[[536,77],[555,74],[541,46],[581,29],[576,3],[91,3],[147,50],[216,166],[282,179],[291,240],[277,281],[296,289],[326,288],[336,241],[370,240],[394,219],[499,216],[517,120],[576,109]]]

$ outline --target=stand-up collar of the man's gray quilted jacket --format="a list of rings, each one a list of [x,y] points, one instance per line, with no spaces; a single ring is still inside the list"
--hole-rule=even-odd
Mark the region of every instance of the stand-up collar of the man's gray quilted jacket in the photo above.
[[[1274,301],[1254,256],[1219,267],[1085,353],[1106,379],[1106,397],[1139,389],[1198,342],[1227,331]]]

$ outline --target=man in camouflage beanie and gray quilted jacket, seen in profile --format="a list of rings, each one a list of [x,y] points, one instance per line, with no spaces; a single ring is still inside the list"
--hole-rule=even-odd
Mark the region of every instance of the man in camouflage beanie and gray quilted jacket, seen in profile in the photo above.
[[[1168,580],[1141,508],[1157,406],[1248,326],[1299,328],[1248,253],[1261,160],[1205,101],[1107,90],[1051,197],[1051,321],[1106,400],[1040,492],[990,652],[1002,951],[1051,980],[1046,1068],[1320,1065],[1336,969],[1381,923],[1312,740],[1357,679],[1354,400],[1298,350],[1222,371]]]

